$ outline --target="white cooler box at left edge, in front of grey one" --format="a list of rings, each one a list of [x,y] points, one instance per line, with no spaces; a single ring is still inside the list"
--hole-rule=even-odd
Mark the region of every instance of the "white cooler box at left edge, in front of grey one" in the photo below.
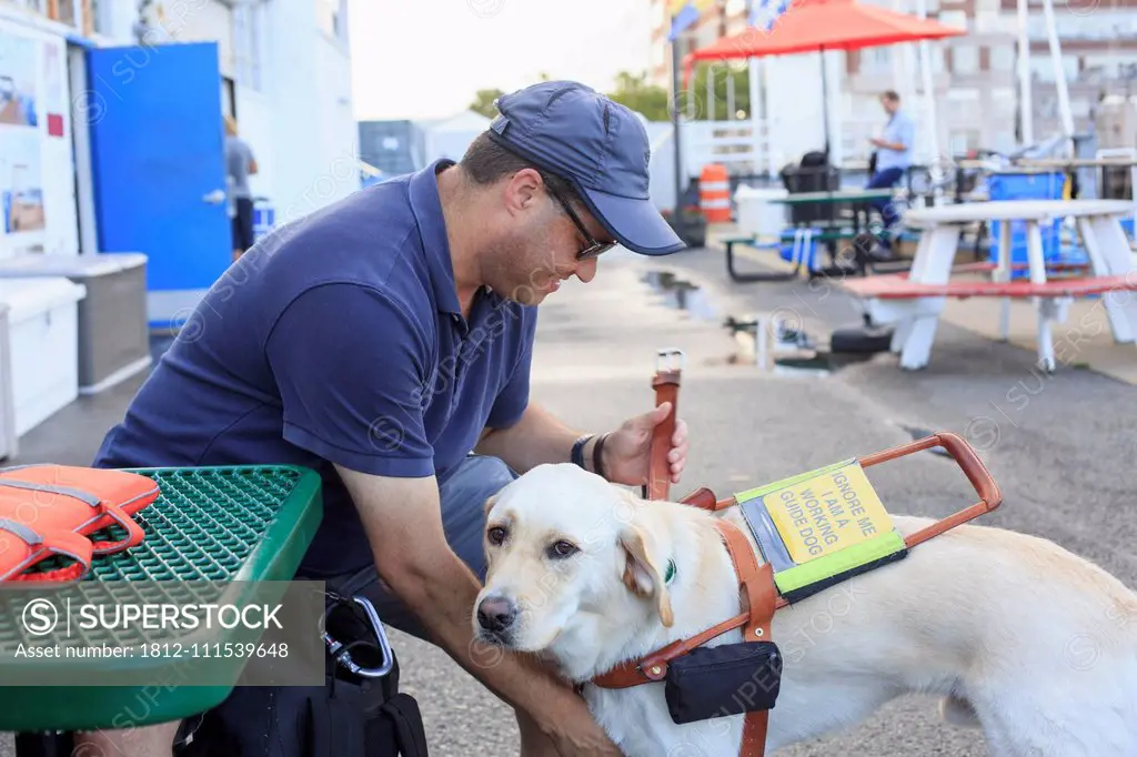
[[[78,397],[78,302],[84,297],[86,288],[68,278],[0,278],[17,438]]]

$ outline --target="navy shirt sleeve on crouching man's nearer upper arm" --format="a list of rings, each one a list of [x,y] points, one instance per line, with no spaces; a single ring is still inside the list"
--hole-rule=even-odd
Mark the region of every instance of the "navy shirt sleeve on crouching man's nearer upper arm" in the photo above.
[[[290,443],[362,473],[434,473],[420,401],[426,340],[390,297],[351,283],[308,289],[276,319],[265,352]]]

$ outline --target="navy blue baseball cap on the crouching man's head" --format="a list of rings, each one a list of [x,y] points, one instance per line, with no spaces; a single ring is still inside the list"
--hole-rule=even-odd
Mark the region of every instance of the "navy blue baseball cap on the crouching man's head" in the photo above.
[[[630,109],[578,82],[541,82],[496,105],[490,139],[570,182],[621,244],[641,255],[687,247],[652,203],[652,148]]]

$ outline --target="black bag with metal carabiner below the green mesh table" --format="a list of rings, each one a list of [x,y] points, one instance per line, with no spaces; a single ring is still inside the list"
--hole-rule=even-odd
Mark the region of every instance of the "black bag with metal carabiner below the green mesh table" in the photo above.
[[[177,757],[428,757],[418,704],[367,600],[330,594],[323,687],[238,687],[182,724]]]

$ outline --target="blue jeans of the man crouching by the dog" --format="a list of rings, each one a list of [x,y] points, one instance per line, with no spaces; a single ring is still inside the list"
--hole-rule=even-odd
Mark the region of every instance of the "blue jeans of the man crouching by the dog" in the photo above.
[[[471,455],[439,480],[442,530],[446,532],[446,540],[479,581],[485,580],[485,551],[482,547],[485,500],[516,477],[517,475],[500,459]],[[366,597],[375,606],[383,623],[430,641],[426,630],[414,613],[379,580],[374,565],[368,565],[356,573],[332,576],[326,580],[326,588],[346,597],[352,594]]]

